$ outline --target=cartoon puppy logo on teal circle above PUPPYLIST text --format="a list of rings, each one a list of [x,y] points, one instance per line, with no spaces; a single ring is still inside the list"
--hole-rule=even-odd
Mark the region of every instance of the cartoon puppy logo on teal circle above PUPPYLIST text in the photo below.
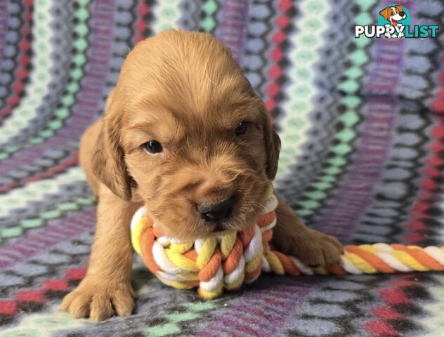
[[[403,29],[405,25],[410,25],[410,15],[407,8],[400,5],[390,5],[379,12],[378,25],[390,26],[384,36],[387,39],[402,39],[405,35]]]

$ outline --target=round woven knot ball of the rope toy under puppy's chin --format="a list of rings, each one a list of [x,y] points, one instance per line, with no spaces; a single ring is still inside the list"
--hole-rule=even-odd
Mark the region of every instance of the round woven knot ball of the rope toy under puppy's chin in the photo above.
[[[145,265],[164,284],[178,289],[198,286],[202,298],[221,296],[223,289],[239,289],[259,277],[270,265],[264,251],[270,247],[278,200],[272,193],[259,220],[242,232],[196,239],[194,242],[164,236],[145,207],[131,221],[131,241]]]

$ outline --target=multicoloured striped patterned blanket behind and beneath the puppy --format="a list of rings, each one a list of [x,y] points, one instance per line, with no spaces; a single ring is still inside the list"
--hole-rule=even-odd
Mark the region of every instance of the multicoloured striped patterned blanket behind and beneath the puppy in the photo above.
[[[442,336],[444,274],[262,276],[205,302],[136,260],[134,315],[58,311],[96,200],[79,137],[122,60],[170,27],[225,42],[282,138],[276,189],[344,244],[444,245],[444,32],[355,38],[381,0],[0,0],[0,336]],[[438,0],[400,0],[440,25]],[[379,18],[381,19],[381,18]]]

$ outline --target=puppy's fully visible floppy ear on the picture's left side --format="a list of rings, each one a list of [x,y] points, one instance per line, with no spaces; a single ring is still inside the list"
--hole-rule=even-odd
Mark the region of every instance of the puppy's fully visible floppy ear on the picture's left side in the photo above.
[[[131,179],[126,172],[124,151],[120,145],[121,120],[115,89],[108,96],[102,129],[96,143],[92,168],[96,177],[114,194],[131,199]]]

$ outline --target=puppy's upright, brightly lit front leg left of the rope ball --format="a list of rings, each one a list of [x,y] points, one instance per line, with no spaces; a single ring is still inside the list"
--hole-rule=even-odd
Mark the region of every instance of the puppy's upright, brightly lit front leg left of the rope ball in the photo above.
[[[72,317],[101,321],[131,315],[136,296],[131,288],[130,222],[136,205],[119,199],[100,185],[96,236],[85,278],[65,296],[62,310]]]

